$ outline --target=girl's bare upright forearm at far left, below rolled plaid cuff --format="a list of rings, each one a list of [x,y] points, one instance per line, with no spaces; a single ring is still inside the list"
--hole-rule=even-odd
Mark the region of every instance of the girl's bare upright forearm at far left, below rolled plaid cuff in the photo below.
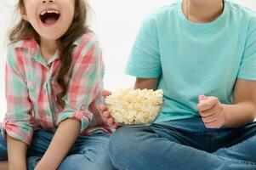
[[[9,170],[26,170],[27,145],[7,135]]]

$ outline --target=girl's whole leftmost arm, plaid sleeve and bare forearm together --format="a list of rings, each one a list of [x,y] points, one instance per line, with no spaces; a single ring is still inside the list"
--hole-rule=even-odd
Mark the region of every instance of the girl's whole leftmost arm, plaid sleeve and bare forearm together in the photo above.
[[[29,98],[25,68],[26,57],[16,53],[13,45],[7,49],[5,88],[7,113],[2,126],[7,139],[9,169],[26,169],[27,145],[33,135],[32,104]],[[0,154],[1,155],[1,154]]]

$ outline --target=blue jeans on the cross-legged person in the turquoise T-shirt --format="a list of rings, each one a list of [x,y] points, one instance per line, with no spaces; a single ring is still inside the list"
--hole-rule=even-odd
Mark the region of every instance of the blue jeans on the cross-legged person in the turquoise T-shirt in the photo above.
[[[122,170],[255,170],[256,123],[208,129],[200,117],[121,127],[111,135],[112,164]]]

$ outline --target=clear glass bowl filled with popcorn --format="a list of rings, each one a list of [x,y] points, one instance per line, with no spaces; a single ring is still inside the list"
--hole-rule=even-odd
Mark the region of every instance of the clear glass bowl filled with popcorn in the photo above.
[[[120,89],[105,98],[105,105],[118,124],[145,126],[160,115],[162,94],[161,89]]]

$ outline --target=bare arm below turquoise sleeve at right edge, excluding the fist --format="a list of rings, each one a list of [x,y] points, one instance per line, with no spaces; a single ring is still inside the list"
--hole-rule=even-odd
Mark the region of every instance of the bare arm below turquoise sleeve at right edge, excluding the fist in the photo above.
[[[256,116],[256,81],[237,79],[234,105],[225,105],[227,127],[241,127]]]

